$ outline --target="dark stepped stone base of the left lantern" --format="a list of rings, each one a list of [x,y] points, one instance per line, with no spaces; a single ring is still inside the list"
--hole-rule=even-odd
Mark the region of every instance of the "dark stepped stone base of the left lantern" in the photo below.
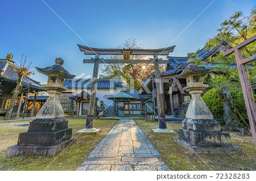
[[[19,133],[18,144],[10,146],[6,156],[53,157],[75,139],[67,119],[35,119],[30,122],[27,132]]]

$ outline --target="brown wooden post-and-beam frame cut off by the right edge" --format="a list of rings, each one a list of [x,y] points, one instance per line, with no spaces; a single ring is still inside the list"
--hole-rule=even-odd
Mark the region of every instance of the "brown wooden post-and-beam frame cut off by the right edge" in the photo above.
[[[240,82],[241,82],[242,91],[243,91],[243,98],[245,99],[245,106],[246,106],[246,111],[247,111],[247,115],[250,123],[251,134],[253,135],[254,146],[256,149],[256,104],[253,98],[253,90],[251,89],[249,73],[245,65],[246,63],[255,61],[256,54],[248,58],[243,58],[243,54],[242,54],[242,48],[245,47],[246,45],[253,43],[254,41],[256,41],[256,35],[243,41],[242,43],[238,44],[236,47],[229,49],[224,53],[224,56],[228,56],[229,54],[235,53],[238,74],[240,77]]]

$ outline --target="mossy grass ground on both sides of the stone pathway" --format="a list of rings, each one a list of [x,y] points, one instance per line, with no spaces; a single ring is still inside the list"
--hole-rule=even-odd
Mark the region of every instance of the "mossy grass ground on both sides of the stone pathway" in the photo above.
[[[19,132],[27,131],[28,127],[18,127],[29,121],[0,123],[0,170],[76,170],[97,144],[105,137],[118,120],[96,120],[94,125],[101,128],[97,135],[80,135],[77,141],[67,148],[59,157],[14,157],[6,158],[8,146],[15,145]],[[232,144],[240,146],[240,155],[213,155],[189,153],[188,150],[174,142],[175,133],[159,134],[151,131],[158,123],[135,120],[144,134],[159,151],[163,161],[170,170],[256,170],[256,151],[252,137],[242,137],[231,132]],[[16,125],[15,125],[16,124]],[[175,132],[181,124],[168,123]],[[73,133],[85,127],[84,119],[69,119],[69,127]],[[73,136],[77,136],[73,134]]]

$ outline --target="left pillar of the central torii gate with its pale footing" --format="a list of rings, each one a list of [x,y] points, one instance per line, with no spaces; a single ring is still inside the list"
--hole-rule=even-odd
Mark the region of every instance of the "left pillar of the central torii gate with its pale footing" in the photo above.
[[[100,133],[100,130],[101,130],[93,127],[94,120],[97,118],[97,117],[94,117],[94,112],[95,112],[95,103],[96,103],[98,65],[100,60],[100,54],[96,54],[94,60],[95,62],[93,67],[92,87],[90,88],[90,102],[89,102],[88,115],[86,116],[86,126],[85,126],[85,129],[82,129],[76,132],[79,134],[98,134]]]

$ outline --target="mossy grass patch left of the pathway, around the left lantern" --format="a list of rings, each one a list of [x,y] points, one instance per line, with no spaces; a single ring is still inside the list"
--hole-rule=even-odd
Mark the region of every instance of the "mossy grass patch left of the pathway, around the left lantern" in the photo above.
[[[73,128],[73,136],[77,131],[85,128],[85,119],[68,119],[68,127]],[[20,132],[28,127],[18,127],[29,121],[15,121],[0,123],[0,170],[76,170],[90,152],[106,136],[118,120],[95,120],[94,127],[101,128],[100,134],[83,135],[69,146],[58,157],[13,157],[6,158],[8,146],[15,145]]]

